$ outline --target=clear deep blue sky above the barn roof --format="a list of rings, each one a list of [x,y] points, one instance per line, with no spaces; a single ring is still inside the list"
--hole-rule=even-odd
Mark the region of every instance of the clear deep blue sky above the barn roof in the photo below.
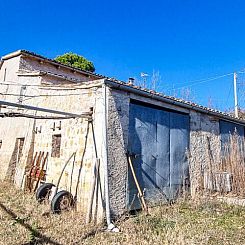
[[[173,94],[169,88],[245,67],[244,13],[242,0],[0,1],[0,56],[73,51],[121,80],[159,71],[161,90]],[[231,85],[232,76],[194,83],[191,97],[225,109]]]

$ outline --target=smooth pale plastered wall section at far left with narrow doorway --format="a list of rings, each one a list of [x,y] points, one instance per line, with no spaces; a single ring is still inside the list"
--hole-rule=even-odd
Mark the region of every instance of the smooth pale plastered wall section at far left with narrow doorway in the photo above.
[[[4,60],[0,69],[0,99],[17,103],[20,98],[22,80],[18,76],[20,57]],[[33,83],[38,78],[32,79]],[[26,80],[25,80],[26,82]],[[27,87],[26,92],[32,94],[32,89]],[[9,107],[0,108],[0,112],[9,112]],[[21,113],[24,110],[11,108],[11,112]],[[29,161],[29,149],[31,145],[31,135],[33,128],[33,120],[28,118],[1,118],[0,119],[0,140],[2,147],[0,149],[0,179],[6,177],[13,178],[15,182],[22,182],[21,174],[17,168],[13,171],[13,166],[22,165]],[[19,162],[15,160],[15,145],[18,138],[25,138],[23,146],[23,155]],[[9,176],[13,174],[14,176]],[[17,181],[18,180],[18,181]]]

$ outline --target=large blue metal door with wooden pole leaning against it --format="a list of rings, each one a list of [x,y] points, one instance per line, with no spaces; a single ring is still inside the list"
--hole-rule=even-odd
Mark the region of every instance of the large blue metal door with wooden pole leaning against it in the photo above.
[[[129,144],[138,182],[151,203],[173,199],[188,176],[189,116],[130,104]],[[128,173],[128,208],[138,209],[138,190]]]

